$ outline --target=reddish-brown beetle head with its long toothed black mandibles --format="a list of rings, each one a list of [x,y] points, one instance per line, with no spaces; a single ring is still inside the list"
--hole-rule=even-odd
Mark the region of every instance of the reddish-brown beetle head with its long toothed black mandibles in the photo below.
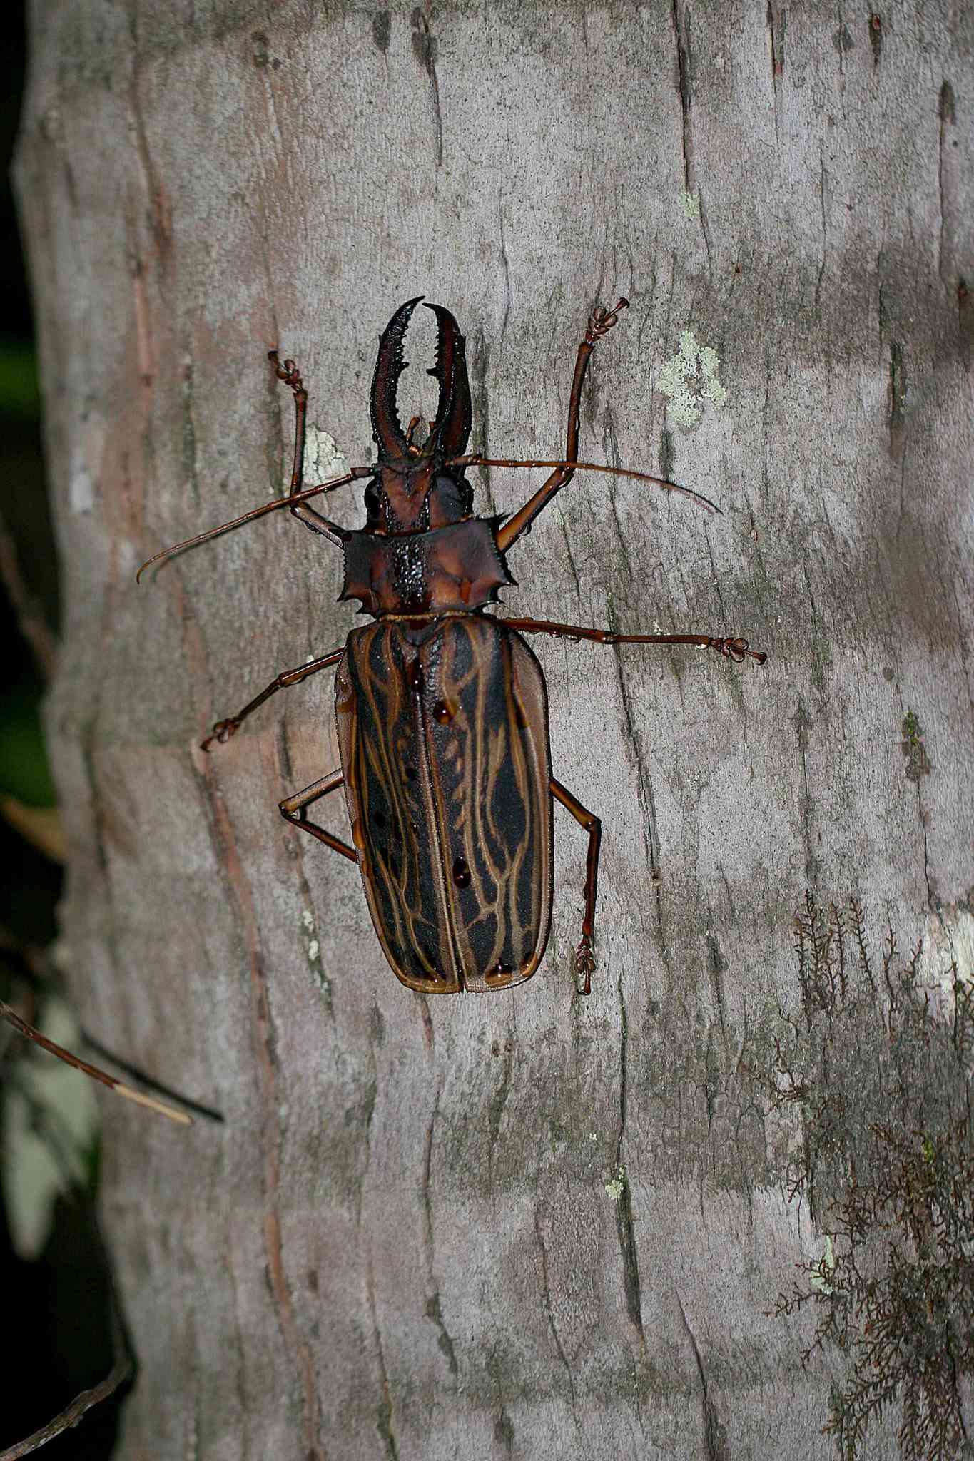
[[[365,488],[367,530],[403,533],[444,527],[469,517],[473,488],[461,468],[444,466],[463,454],[470,435],[470,383],[466,340],[457,321],[440,304],[428,304],[437,316],[437,361],[429,375],[440,383],[437,419],[429,435],[416,446],[413,419],[403,431],[396,411],[399,377],[406,370],[403,339],[413,310],[422,300],[400,304],[378,342],[372,377],[372,435],[378,447],[375,475]]]

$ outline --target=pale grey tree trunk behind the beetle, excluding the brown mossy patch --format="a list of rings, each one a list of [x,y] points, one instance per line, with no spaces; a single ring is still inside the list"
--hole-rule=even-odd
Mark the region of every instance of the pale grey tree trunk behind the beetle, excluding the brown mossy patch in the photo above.
[[[806,888],[854,894],[876,942],[926,935],[930,969],[971,947],[970,20],[34,0],[32,31],[73,989],[223,1115],[183,1135],[104,1103],[140,1365],[120,1454],[829,1455],[840,1359],[803,1369],[812,1318],[768,1313],[821,1255],[800,1131],[748,1039],[799,1007]],[[356,869],[277,814],[337,766],[330,674],[199,749],[342,644],[337,549],[275,514],[134,583],[285,489],[269,348],[369,459],[377,336],[419,292],[467,335],[473,449],[543,457],[590,308],[626,295],[581,456],[724,513],[578,473],[505,611],[770,655],[533,641],[555,776],[603,820],[588,1001],[561,809],[537,977],[426,999]],[[432,415],[428,329],[404,416]],[[536,485],[472,476],[482,513]],[[326,510],[358,524],[361,495]]]

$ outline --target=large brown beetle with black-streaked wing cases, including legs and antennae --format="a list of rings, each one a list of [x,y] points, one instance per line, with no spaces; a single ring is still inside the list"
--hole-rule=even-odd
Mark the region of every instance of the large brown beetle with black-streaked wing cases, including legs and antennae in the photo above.
[[[561,802],[588,836],[586,909],[574,955],[581,993],[594,972],[596,885],[602,823],[552,774],[548,695],[542,668],[523,636],[553,634],[600,644],[698,644],[737,663],[765,656],[743,638],[710,634],[615,634],[548,619],[499,619],[485,612],[514,583],[507,554],[580,468],[619,472],[682,492],[688,488],[578,462],[578,411],[597,342],[628,305],[596,307],[578,345],[568,405],[568,438],[558,462],[464,456],[470,386],[464,339],[453,314],[437,317],[440,386],[435,421],[418,441],[419,418],[403,430],[396,394],[406,368],[403,339],[422,295],[386,326],[372,377],[371,416],[378,460],[312,488],[302,487],[308,393],[294,361],[270,351],[277,378],[294,392],[291,489],[232,523],[164,549],[168,557],[289,507],[315,533],[342,546],[340,599],[358,599],[372,624],[353,628],[342,649],[277,675],[242,710],[213,726],[209,751],[225,742],[277,690],[337,665],[334,706],[342,766],[280,802],[283,817],[358,863],[372,923],[396,977],[422,993],[508,989],[536,972],[552,907],[552,806]],[[475,517],[467,466],[549,466],[551,476],[511,517]],[[317,492],[368,478],[365,527],[352,532],[308,506]],[[308,809],[345,787],[352,846],[308,820]]]

